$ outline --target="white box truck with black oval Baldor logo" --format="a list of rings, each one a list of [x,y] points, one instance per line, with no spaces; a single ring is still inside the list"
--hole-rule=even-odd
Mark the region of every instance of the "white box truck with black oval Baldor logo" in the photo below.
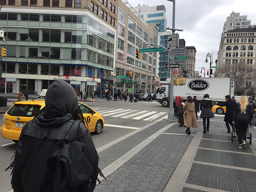
[[[168,79],[166,80],[168,82]],[[170,83],[170,81],[168,82]],[[176,95],[187,100],[188,96],[192,98],[196,95],[198,100],[202,100],[205,94],[209,94],[213,101],[226,101],[225,95],[234,96],[235,79],[234,78],[186,78],[186,84],[173,87],[173,99]],[[162,85],[157,93],[157,101],[163,107],[170,105],[170,85]],[[171,101],[171,104],[173,101]]]

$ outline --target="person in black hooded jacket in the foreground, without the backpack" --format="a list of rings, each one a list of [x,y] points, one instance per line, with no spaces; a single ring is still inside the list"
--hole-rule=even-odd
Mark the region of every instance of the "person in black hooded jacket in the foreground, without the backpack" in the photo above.
[[[80,127],[72,128],[80,119]],[[73,87],[63,80],[54,81],[45,95],[45,107],[22,128],[13,162],[12,188],[14,192],[46,192],[49,187],[47,160],[59,152],[61,139],[81,136],[78,141],[87,146],[92,190],[96,186],[99,156],[92,137],[84,124],[83,114]],[[49,166],[49,165],[48,165]]]

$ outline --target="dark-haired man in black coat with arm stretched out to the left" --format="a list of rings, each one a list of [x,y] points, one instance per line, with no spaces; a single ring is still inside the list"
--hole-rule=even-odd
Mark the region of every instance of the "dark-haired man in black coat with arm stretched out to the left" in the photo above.
[[[233,118],[234,118],[233,116],[234,116],[234,111],[236,109],[236,101],[230,99],[230,95],[226,95],[225,100],[226,100],[226,102],[223,104],[220,104],[218,102],[215,102],[215,103],[216,103],[216,105],[218,105],[220,107],[226,106],[226,114],[224,117],[224,121],[226,122],[226,126],[228,129],[227,133],[230,133],[229,124],[231,125],[233,132],[235,132],[235,128],[234,128],[234,124],[233,124]]]

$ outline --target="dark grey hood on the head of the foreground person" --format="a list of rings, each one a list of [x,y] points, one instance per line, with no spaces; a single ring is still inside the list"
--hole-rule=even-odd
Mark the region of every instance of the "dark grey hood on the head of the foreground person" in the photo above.
[[[54,81],[45,94],[45,112],[49,117],[62,117],[73,114],[78,107],[74,88],[66,81]]]

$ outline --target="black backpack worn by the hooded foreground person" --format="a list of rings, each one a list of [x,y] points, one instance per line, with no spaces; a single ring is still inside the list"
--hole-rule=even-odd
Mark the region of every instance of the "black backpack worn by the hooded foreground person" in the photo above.
[[[80,120],[72,122],[68,133],[75,122],[78,123],[77,133],[79,132]],[[48,192],[92,192],[90,177],[93,174],[93,168],[88,160],[90,157],[86,144],[70,140],[78,137],[67,138],[67,136],[58,143],[59,153],[47,160]]]

